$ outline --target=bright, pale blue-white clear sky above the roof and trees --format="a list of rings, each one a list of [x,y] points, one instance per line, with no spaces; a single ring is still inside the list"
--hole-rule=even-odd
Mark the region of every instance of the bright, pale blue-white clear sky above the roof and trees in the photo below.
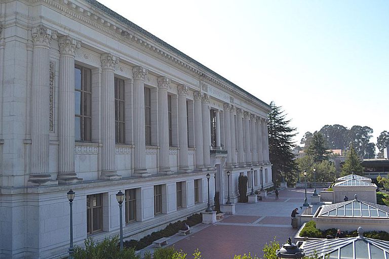
[[[389,131],[389,1],[99,2],[283,106],[298,142],[325,124]]]

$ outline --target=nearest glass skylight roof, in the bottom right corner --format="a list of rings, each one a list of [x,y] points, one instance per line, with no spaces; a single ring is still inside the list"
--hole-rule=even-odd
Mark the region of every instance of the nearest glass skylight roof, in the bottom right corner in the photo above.
[[[389,259],[389,241],[358,237],[306,241],[305,256],[330,259]]]

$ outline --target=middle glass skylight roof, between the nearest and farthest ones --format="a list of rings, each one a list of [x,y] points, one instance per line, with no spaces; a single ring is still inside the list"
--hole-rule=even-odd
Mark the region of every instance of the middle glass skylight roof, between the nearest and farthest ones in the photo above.
[[[356,199],[325,205],[319,217],[389,218],[389,207]]]

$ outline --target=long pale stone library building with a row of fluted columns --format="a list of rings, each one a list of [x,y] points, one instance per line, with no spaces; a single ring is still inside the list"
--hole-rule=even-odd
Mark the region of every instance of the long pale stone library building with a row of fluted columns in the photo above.
[[[140,238],[273,185],[269,105],[94,0],[0,3],[0,258]],[[253,82],[254,83],[254,82]],[[250,169],[253,168],[253,176]],[[250,188],[249,188],[250,189]]]

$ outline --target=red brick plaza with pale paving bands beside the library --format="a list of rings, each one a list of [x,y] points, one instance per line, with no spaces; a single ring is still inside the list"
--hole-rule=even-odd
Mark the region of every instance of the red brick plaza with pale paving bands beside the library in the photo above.
[[[312,193],[313,189],[307,190],[308,201]],[[205,259],[229,259],[248,252],[262,257],[266,242],[276,237],[280,243],[285,243],[297,233],[291,226],[290,214],[296,207],[300,210],[304,190],[282,190],[279,197],[276,200],[275,195],[271,195],[258,203],[237,203],[235,215],[225,215],[213,225],[199,224],[193,227],[193,234],[181,240],[173,237],[174,247],[188,254],[199,248]]]

